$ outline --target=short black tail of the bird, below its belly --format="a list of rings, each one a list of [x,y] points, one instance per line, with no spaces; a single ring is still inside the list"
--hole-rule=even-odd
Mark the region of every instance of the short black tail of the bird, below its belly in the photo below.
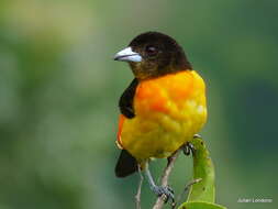
[[[115,166],[115,176],[122,178],[137,170],[136,160],[127,151],[122,150]]]

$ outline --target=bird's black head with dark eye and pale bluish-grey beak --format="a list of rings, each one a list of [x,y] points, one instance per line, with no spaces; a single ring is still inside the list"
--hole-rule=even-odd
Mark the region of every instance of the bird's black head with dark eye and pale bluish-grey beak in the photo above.
[[[115,59],[129,62],[138,79],[191,69],[184,50],[163,33],[143,33],[132,40],[129,46],[118,53]]]

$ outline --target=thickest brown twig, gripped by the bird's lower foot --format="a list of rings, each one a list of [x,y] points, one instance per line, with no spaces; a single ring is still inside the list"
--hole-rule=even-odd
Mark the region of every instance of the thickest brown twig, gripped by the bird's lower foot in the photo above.
[[[179,148],[178,151],[176,151],[169,158],[168,158],[168,164],[167,166],[165,167],[164,172],[163,172],[163,175],[162,175],[162,186],[166,187],[168,186],[168,178],[169,178],[169,175],[171,173],[171,169],[174,167],[174,164],[180,153],[182,148]],[[158,197],[156,199],[156,202],[153,207],[153,209],[162,209],[163,208],[163,205],[165,204],[165,199],[167,197],[165,195]]]

